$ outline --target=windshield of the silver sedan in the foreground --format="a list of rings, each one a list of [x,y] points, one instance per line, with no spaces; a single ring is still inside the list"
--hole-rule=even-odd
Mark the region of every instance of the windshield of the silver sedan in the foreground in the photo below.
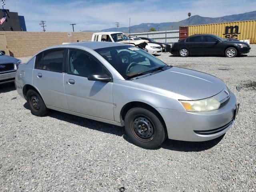
[[[125,79],[160,72],[172,66],[134,46],[116,46],[96,49]]]

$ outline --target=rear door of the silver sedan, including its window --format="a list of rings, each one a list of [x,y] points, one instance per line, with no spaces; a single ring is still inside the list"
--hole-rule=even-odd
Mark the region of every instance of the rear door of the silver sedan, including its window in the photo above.
[[[58,48],[38,54],[32,79],[45,104],[61,109],[68,109],[63,85],[65,52],[65,48]]]

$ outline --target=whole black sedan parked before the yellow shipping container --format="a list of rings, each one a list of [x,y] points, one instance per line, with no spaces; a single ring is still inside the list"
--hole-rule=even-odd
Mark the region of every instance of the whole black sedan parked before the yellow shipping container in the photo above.
[[[172,44],[170,52],[181,57],[189,55],[235,57],[250,52],[250,49],[246,42],[227,40],[212,34],[197,34]]]

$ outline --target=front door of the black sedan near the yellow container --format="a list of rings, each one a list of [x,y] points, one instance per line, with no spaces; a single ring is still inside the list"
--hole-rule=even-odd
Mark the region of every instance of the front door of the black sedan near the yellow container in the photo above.
[[[210,35],[203,36],[203,53],[205,55],[220,55],[223,52],[222,42]]]

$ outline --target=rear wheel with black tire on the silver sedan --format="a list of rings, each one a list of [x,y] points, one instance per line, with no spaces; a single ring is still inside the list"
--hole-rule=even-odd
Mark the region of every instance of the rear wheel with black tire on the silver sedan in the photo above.
[[[38,92],[34,90],[28,90],[26,98],[29,109],[33,115],[44,116],[49,112]]]

